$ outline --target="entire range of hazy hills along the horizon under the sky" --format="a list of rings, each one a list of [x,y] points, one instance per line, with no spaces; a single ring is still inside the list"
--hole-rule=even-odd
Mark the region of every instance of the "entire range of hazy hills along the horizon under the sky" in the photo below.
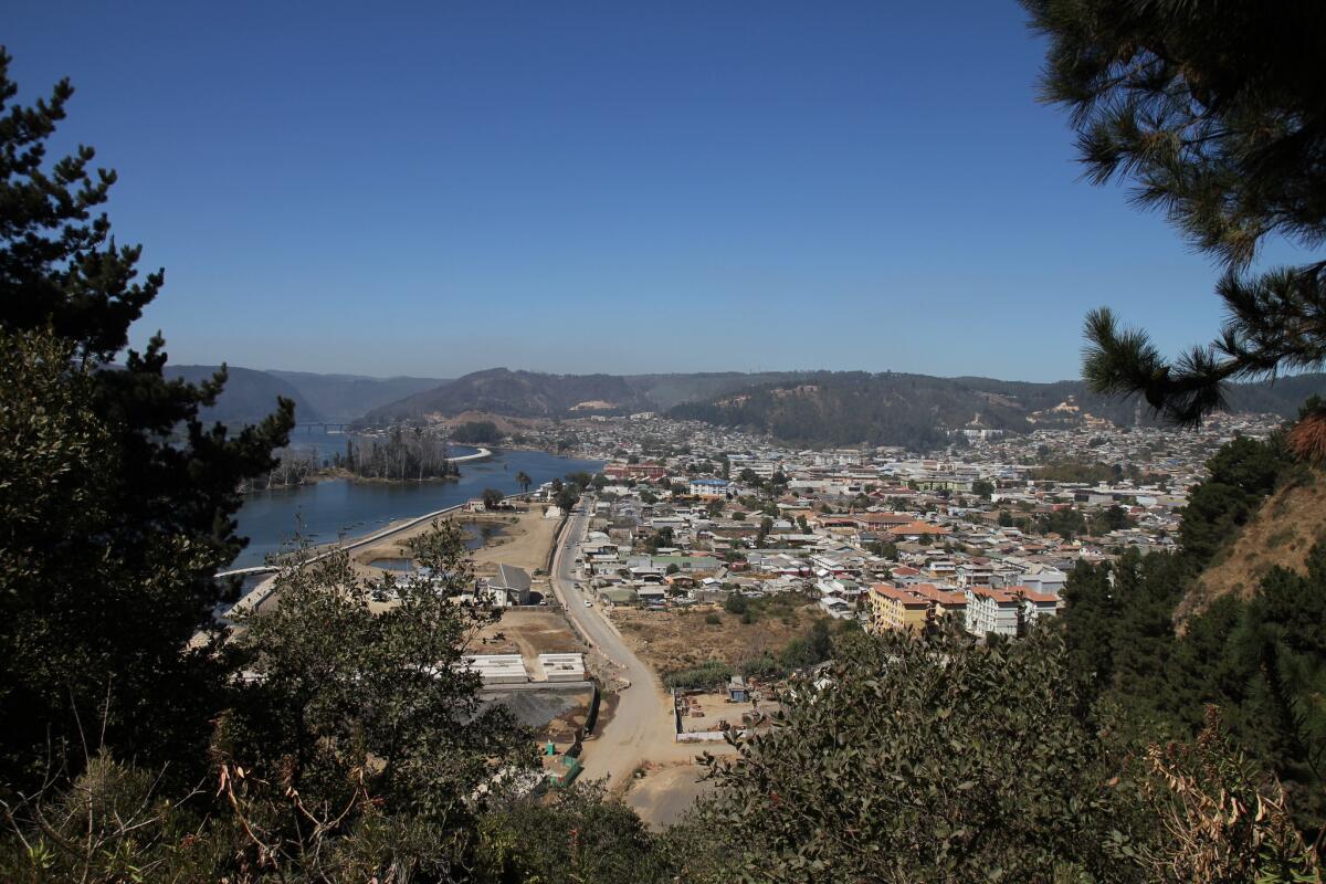
[[[167,374],[198,382],[215,370],[172,366]],[[468,412],[565,419],[655,411],[793,443],[918,448],[937,444],[945,429],[961,427],[1025,432],[1075,424],[1087,416],[1115,424],[1152,420],[1135,400],[1099,396],[1081,380],[1030,383],[865,371],[553,375],[509,368],[442,380],[239,367],[229,371],[225,392],[210,412],[215,420],[260,420],[272,411],[277,396],[288,396],[301,421],[386,425]],[[1313,394],[1326,394],[1326,375],[1232,384],[1228,404],[1236,412],[1290,417]]]

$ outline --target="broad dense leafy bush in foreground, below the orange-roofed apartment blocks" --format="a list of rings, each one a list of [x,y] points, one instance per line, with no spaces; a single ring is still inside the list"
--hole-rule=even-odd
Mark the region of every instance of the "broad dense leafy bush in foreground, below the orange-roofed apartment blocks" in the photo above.
[[[1103,844],[1128,820],[1062,655],[1041,632],[858,634],[831,684],[798,683],[770,733],[713,761],[724,790],[693,824],[740,847],[704,880],[1119,880]]]

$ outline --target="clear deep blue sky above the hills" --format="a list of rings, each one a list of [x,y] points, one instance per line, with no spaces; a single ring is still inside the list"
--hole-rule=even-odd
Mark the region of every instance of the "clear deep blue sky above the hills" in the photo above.
[[[179,363],[1075,376],[1216,270],[1079,180],[1012,1],[11,0]]]

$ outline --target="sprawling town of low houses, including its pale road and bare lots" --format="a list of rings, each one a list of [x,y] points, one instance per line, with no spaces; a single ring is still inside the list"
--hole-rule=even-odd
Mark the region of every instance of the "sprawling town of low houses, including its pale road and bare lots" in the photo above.
[[[459,508],[513,534],[528,522],[537,541],[477,554],[476,594],[504,608],[503,639],[467,665],[489,701],[521,692],[548,782],[606,777],[668,824],[705,791],[696,755],[766,726],[789,679],[829,665],[831,636],[1017,640],[1061,612],[1079,562],[1174,551],[1207,460],[1280,420],[976,425],[924,455],[796,449],[654,414],[522,427],[521,444],[603,465]],[[399,554],[370,546],[358,561]]]

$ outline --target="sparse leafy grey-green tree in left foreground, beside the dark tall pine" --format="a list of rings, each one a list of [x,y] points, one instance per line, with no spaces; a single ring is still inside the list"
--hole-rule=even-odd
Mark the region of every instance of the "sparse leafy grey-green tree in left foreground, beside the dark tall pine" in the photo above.
[[[252,868],[302,880],[390,877],[402,863],[444,877],[475,850],[475,790],[533,763],[503,705],[483,706],[463,655],[500,610],[475,582],[459,529],[410,543],[424,577],[366,583],[339,551],[277,578],[280,603],[247,615],[253,673],[213,753]],[[373,612],[374,588],[398,602]]]

